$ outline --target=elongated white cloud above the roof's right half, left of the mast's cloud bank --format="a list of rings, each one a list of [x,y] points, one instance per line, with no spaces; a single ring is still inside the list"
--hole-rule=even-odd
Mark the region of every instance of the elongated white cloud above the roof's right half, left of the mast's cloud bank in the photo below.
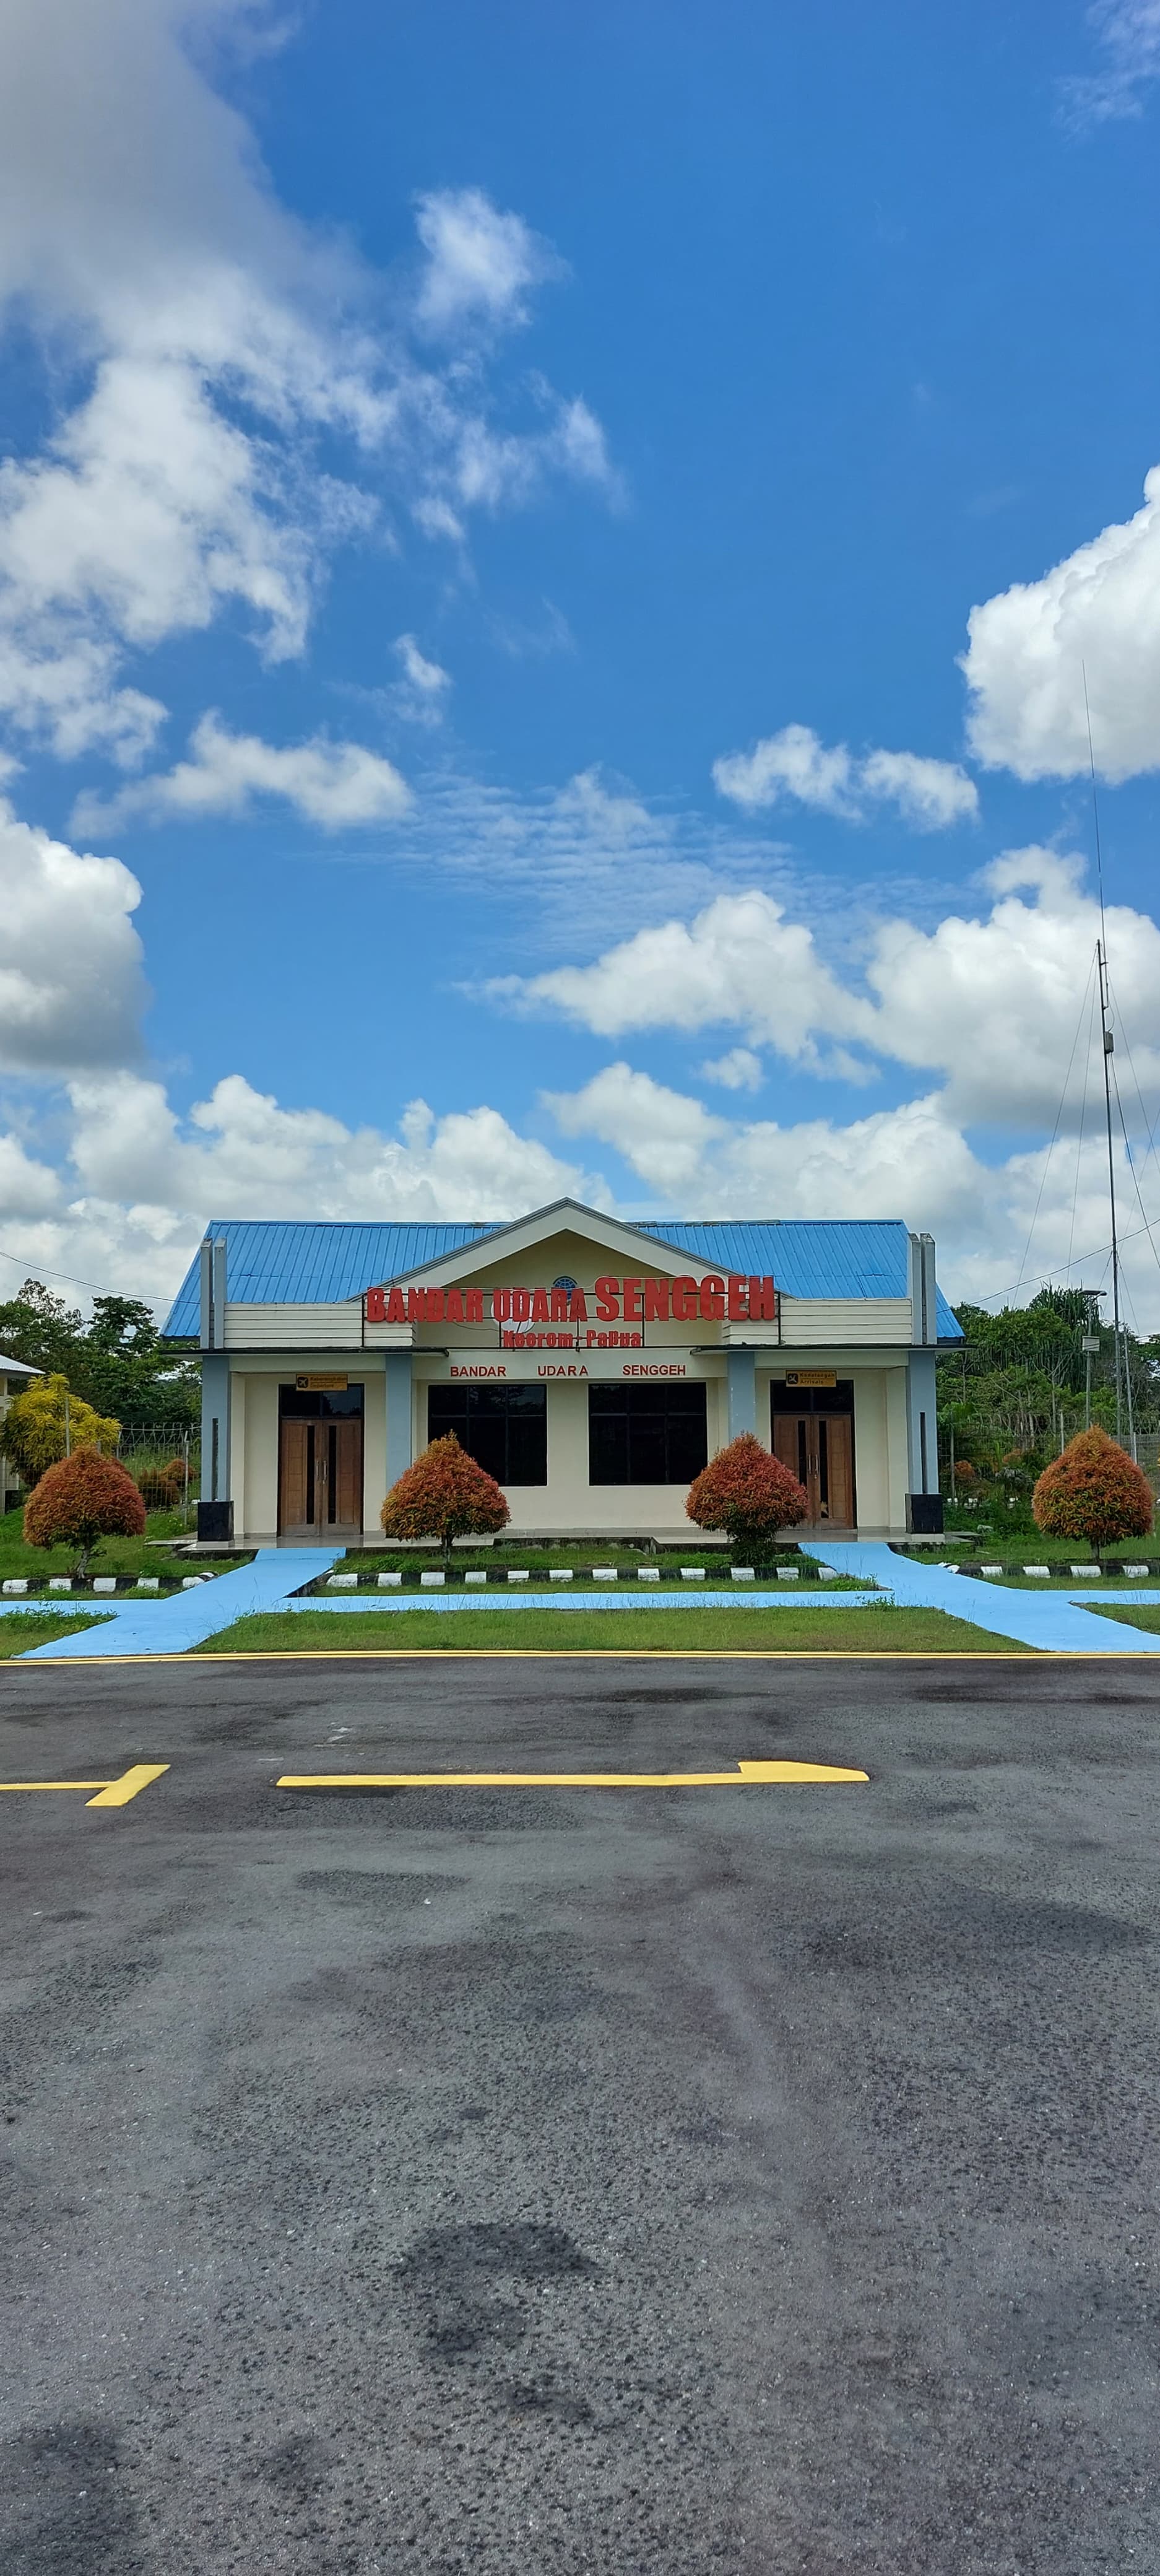
[[[505,976],[495,999],[521,1010],[549,1007],[601,1038],[629,1028],[686,1033],[740,1025],[781,1056],[817,1064],[815,1033],[866,1038],[874,1010],[846,992],[802,922],[786,922],[768,894],[719,894],[693,922],[637,930],[593,966],[554,966],[539,976]]]

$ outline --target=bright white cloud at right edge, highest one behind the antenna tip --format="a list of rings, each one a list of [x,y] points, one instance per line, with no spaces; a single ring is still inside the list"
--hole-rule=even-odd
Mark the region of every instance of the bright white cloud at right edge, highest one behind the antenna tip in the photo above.
[[[1145,507],[1039,582],[972,608],[962,667],[980,760],[1016,778],[1078,778],[1090,734],[1103,778],[1160,768],[1160,466]]]

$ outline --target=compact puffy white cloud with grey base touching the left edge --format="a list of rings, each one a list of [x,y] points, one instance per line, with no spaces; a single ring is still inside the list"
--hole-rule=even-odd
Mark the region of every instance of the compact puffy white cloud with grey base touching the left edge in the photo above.
[[[142,889],[0,804],[0,1064],[54,1074],[139,1054]]]

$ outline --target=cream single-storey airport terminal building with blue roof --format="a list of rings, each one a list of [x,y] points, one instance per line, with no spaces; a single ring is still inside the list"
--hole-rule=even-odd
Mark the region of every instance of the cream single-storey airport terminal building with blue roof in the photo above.
[[[516,1533],[688,1533],[755,1432],[833,1535],[941,1528],[933,1239],[894,1221],[211,1224],[165,1324],[201,1345],[201,1538],[379,1535],[454,1430]]]

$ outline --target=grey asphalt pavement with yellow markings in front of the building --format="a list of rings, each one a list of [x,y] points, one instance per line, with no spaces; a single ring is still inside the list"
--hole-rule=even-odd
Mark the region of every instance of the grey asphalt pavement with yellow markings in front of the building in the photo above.
[[[1160,1677],[0,1669],[5,2576],[1155,2571]],[[289,1793],[278,1770],[869,1788]]]

